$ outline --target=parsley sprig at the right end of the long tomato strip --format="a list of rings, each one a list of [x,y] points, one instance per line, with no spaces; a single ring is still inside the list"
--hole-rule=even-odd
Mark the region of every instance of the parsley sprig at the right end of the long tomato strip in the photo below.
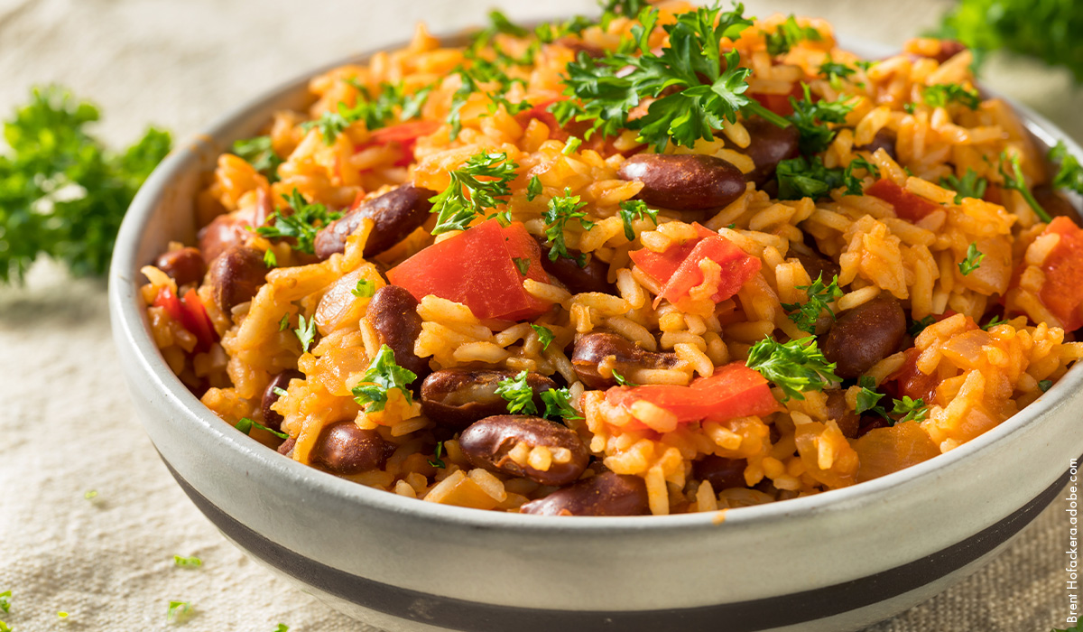
[[[785,399],[804,400],[804,392],[839,382],[835,364],[817,347],[815,336],[779,343],[767,337],[748,349],[745,364],[782,389]]]

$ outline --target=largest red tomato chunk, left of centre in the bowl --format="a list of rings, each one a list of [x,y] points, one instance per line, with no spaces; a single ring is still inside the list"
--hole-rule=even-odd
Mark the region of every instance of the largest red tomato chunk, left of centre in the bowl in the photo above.
[[[549,304],[523,289],[524,274],[513,259],[527,260],[525,278],[548,282],[542,250],[526,228],[520,222],[503,228],[491,219],[406,259],[388,271],[388,281],[418,300],[431,294],[461,302],[480,319],[545,313]]]

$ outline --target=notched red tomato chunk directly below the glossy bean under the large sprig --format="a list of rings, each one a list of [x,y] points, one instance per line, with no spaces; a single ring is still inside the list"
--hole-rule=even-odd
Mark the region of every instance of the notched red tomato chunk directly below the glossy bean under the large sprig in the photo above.
[[[662,284],[662,293],[655,299],[655,307],[663,298],[676,302],[703,283],[700,261],[704,258],[715,261],[722,269],[718,292],[712,296],[715,302],[732,297],[759,271],[759,259],[748,256],[729,240],[699,223],[693,225],[700,234],[697,238],[675,245],[664,253],[641,248],[628,254],[643,272]]]

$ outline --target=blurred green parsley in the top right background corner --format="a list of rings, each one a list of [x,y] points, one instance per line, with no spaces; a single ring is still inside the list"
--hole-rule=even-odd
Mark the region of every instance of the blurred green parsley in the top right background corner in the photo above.
[[[955,39],[976,57],[1005,50],[1065,66],[1083,83],[1083,2],[962,0],[934,35]]]

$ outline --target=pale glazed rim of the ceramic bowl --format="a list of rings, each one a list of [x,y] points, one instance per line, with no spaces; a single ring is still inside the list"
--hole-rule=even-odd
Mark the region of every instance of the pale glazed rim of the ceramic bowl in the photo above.
[[[455,34],[436,37],[444,44],[454,44],[466,36]],[[863,56],[890,54],[895,50],[893,47],[863,41],[859,38],[837,37],[837,40],[839,47],[853,49]],[[1047,392],[1040,396],[1030,405],[996,427],[948,453],[880,478],[846,488],[762,505],[695,514],[619,517],[576,516],[572,518],[482,511],[428,503],[339,478],[278,454],[246,435],[234,431],[232,426],[223,423],[188,391],[166,364],[151,336],[145,309],[138,291],[139,286],[142,285],[139,269],[147,263],[138,259],[138,250],[144,238],[147,224],[165,202],[170,183],[198,168],[200,154],[213,152],[217,155],[225,151],[229,142],[237,138],[237,130],[245,127],[246,124],[251,124],[256,114],[273,102],[299,93],[308,86],[312,77],[345,64],[362,63],[378,52],[394,50],[402,46],[404,44],[382,46],[305,70],[261,92],[255,99],[231,108],[200,133],[194,134],[191,142],[178,142],[174,150],[158,165],[140,189],[120,227],[108,275],[109,311],[115,321],[115,344],[120,347],[121,353],[130,352],[133,356],[136,365],[148,378],[147,382],[159,391],[161,397],[156,407],[159,409],[172,407],[180,413],[178,418],[171,423],[180,423],[180,418],[186,420],[185,423],[191,423],[195,431],[206,434],[204,440],[219,443],[223,450],[229,450],[234,457],[243,460],[249,468],[278,469],[279,474],[290,479],[293,485],[304,486],[306,493],[344,502],[356,502],[373,510],[431,520],[434,524],[446,523],[460,527],[507,528],[520,532],[550,533],[590,531],[595,534],[627,533],[644,529],[681,531],[717,529],[721,523],[728,527],[758,527],[784,518],[841,511],[851,506],[874,503],[885,499],[895,488],[931,482],[936,476],[944,470],[958,467],[961,464],[977,459],[982,453],[990,452],[1002,442],[1008,441],[1013,435],[1031,430],[1041,423],[1044,415],[1061,403],[1061,400],[1071,392],[1083,389],[1083,365],[1074,365]],[[1071,154],[1083,158],[1083,150],[1080,145],[1045,117],[1014,99],[993,91],[987,90],[987,92],[991,96],[1006,101],[1015,109],[1025,128],[1040,141],[1048,146],[1052,146],[1056,141],[1064,141]],[[1079,199],[1074,194],[1072,197]]]

